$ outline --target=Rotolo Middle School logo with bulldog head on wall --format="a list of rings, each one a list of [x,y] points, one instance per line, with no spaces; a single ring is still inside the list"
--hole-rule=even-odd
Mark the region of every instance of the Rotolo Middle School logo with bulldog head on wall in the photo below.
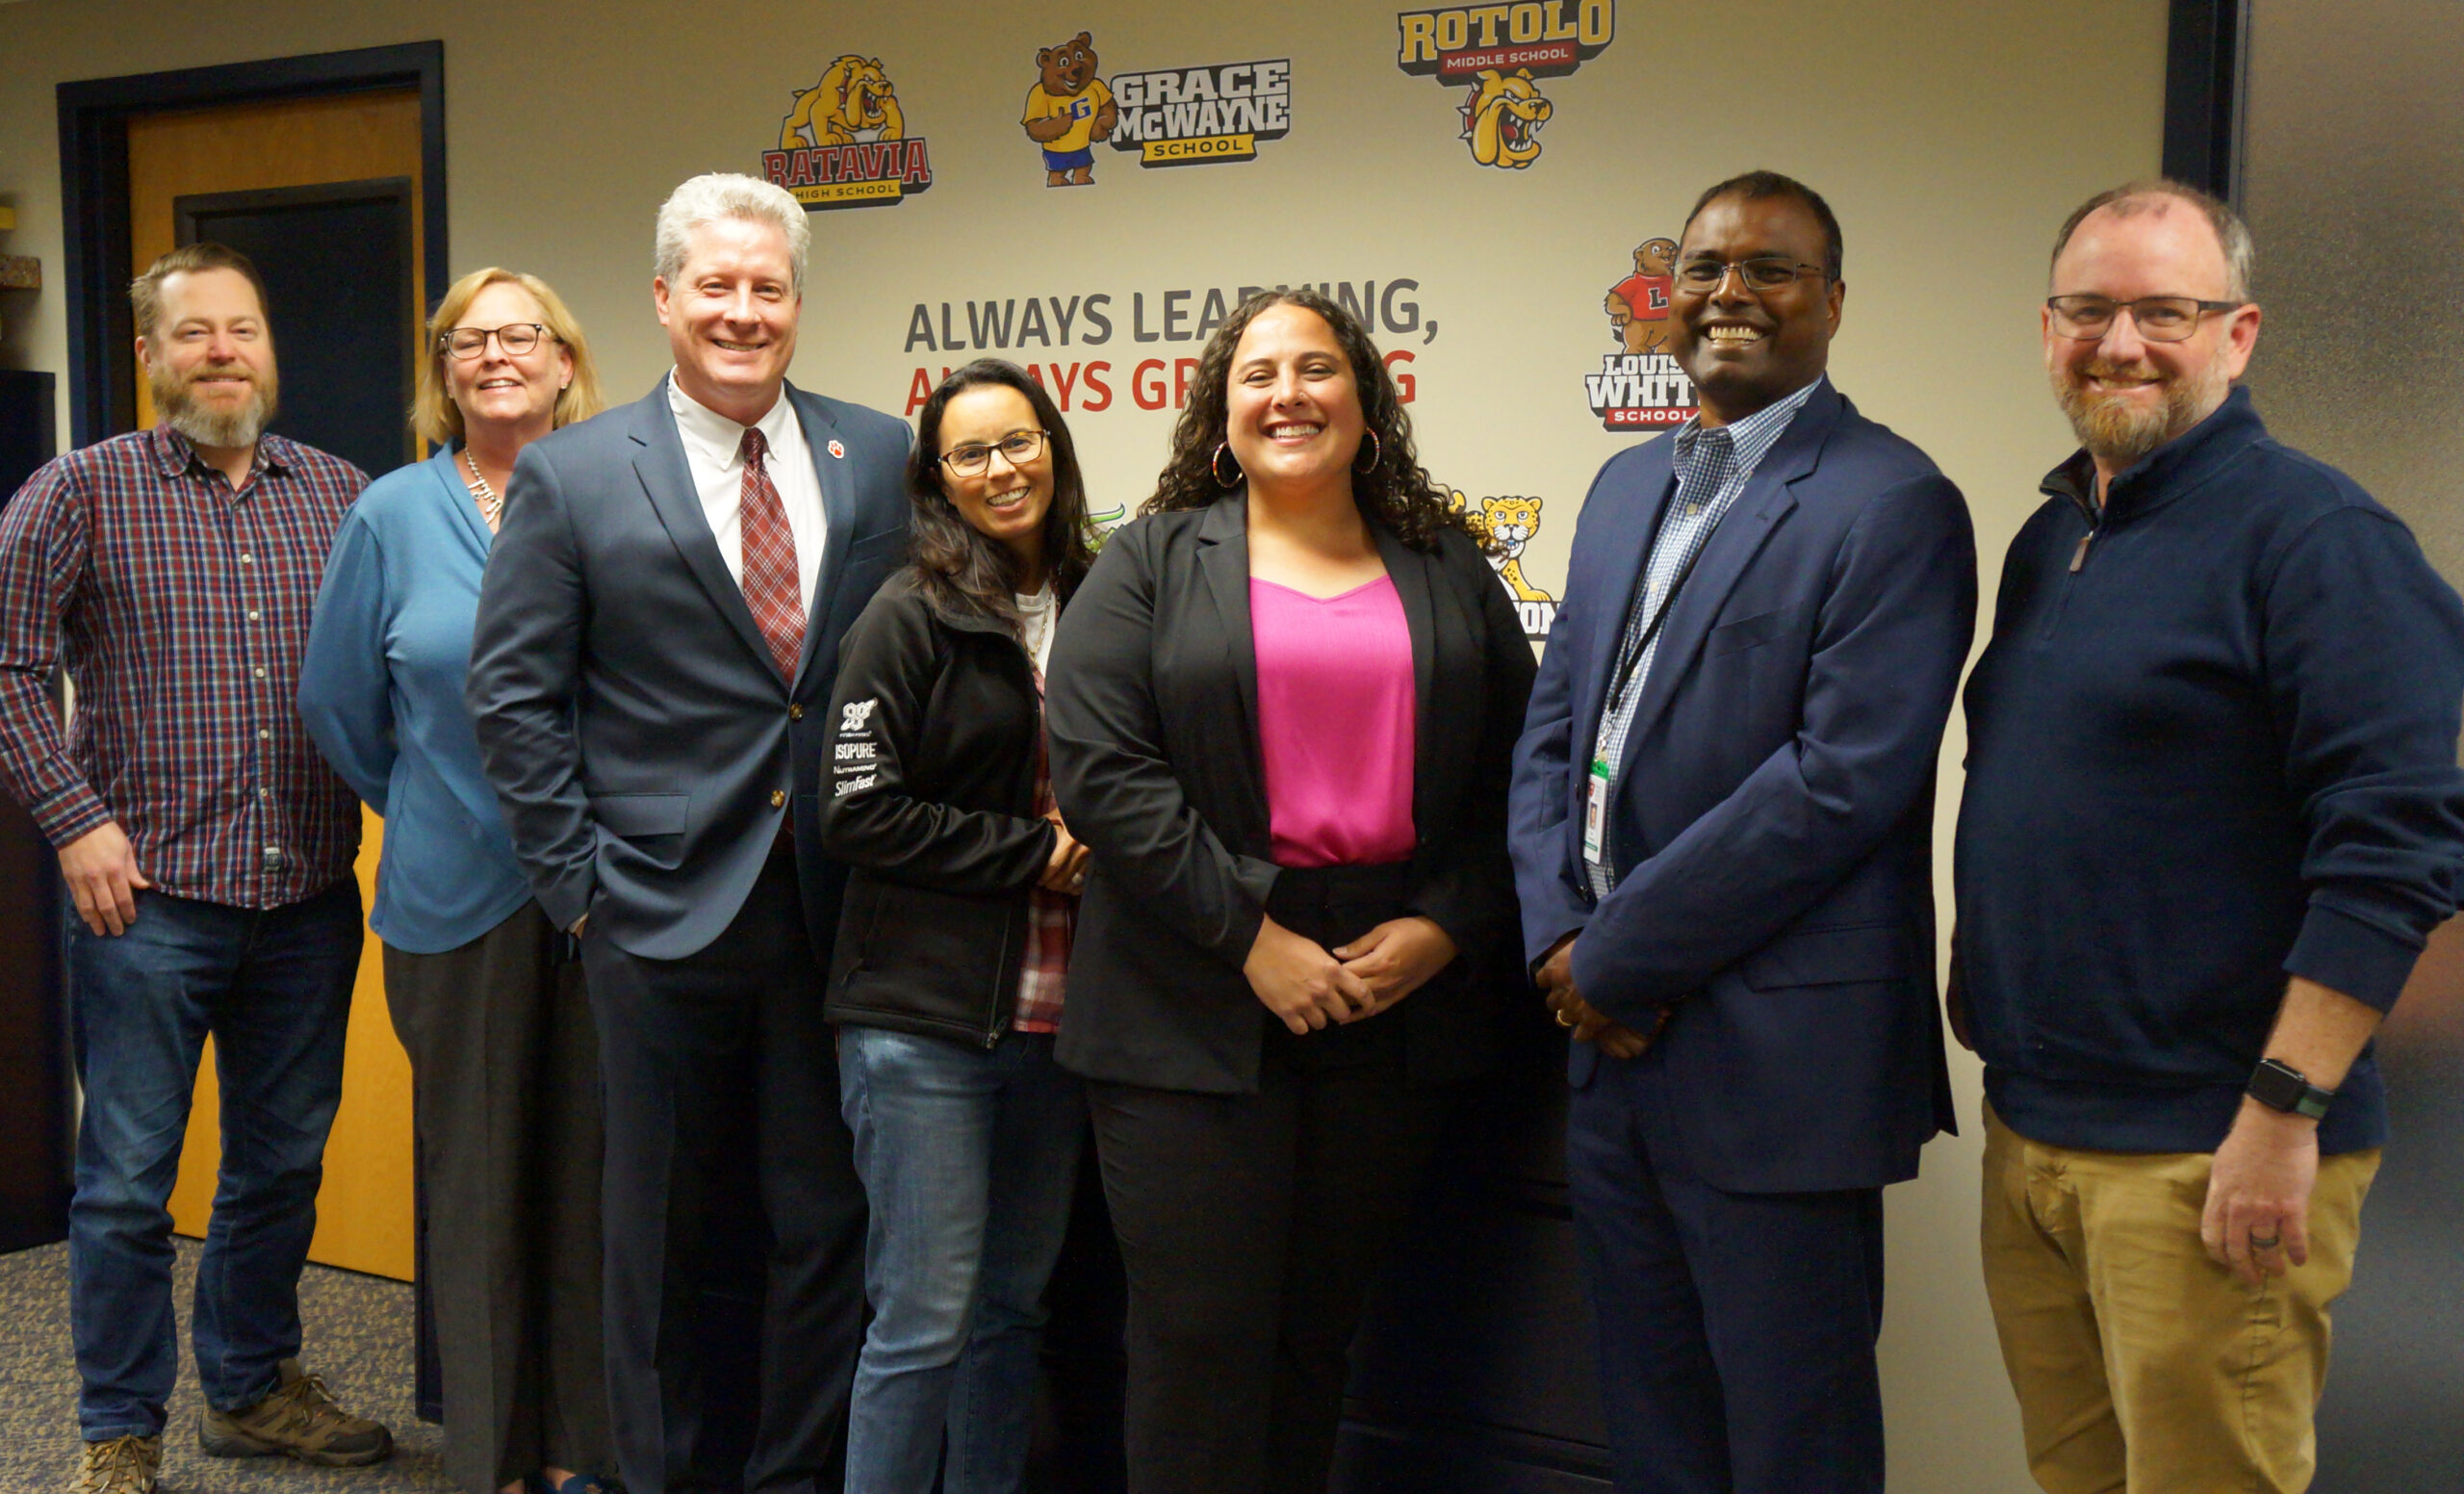
[[[1540,126],[1557,106],[1538,79],[1562,79],[1616,37],[1616,0],[1523,0],[1404,10],[1395,67],[1466,89],[1456,106],[1471,160],[1523,170],[1540,160]]]

